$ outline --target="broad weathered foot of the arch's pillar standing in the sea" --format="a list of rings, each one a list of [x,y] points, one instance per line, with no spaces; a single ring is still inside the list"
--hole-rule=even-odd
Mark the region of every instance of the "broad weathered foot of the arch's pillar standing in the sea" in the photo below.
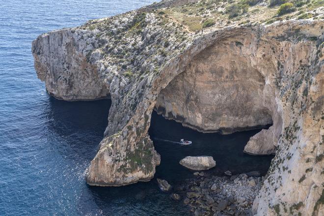
[[[118,139],[118,144],[114,139]],[[122,186],[138,181],[150,181],[155,167],[160,164],[160,155],[154,150],[153,142],[145,137],[136,143],[132,151],[122,135],[104,138],[96,157],[91,161],[86,181],[92,186]],[[128,160],[118,157],[122,153]]]

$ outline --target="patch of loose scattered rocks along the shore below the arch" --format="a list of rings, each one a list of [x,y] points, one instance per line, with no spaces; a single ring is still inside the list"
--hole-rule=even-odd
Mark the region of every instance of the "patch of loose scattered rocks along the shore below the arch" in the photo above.
[[[195,172],[193,178],[175,185],[170,197],[188,206],[194,216],[253,215],[253,200],[263,181],[257,171],[233,176]]]

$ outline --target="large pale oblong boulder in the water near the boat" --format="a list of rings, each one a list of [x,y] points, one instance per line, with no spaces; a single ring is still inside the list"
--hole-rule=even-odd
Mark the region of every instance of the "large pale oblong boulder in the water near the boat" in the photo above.
[[[207,170],[216,166],[216,162],[211,156],[187,156],[179,163],[192,170]]]

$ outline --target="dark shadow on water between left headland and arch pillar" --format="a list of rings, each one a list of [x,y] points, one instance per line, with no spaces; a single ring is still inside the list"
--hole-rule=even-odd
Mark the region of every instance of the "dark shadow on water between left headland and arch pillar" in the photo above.
[[[49,102],[50,131],[63,138],[75,155],[92,160],[108,125],[111,101],[66,102],[50,97]]]

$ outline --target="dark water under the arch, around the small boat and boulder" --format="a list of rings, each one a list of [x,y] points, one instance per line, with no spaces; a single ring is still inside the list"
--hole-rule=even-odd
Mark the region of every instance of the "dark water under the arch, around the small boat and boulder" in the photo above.
[[[204,134],[183,127],[173,120],[166,120],[153,111],[149,135],[155,149],[161,155],[161,164],[157,166],[156,177],[166,178],[171,182],[191,178],[192,171],[180,165],[179,161],[186,156],[201,155],[212,156],[216,161],[216,167],[207,171],[214,175],[223,175],[226,170],[230,170],[234,175],[249,171],[260,171],[261,175],[265,175],[273,156],[243,153],[249,138],[260,131],[261,129],[255,129],[230,135]],[[182,146],[176,143],[184,137],[191,140],[192,144]]]

